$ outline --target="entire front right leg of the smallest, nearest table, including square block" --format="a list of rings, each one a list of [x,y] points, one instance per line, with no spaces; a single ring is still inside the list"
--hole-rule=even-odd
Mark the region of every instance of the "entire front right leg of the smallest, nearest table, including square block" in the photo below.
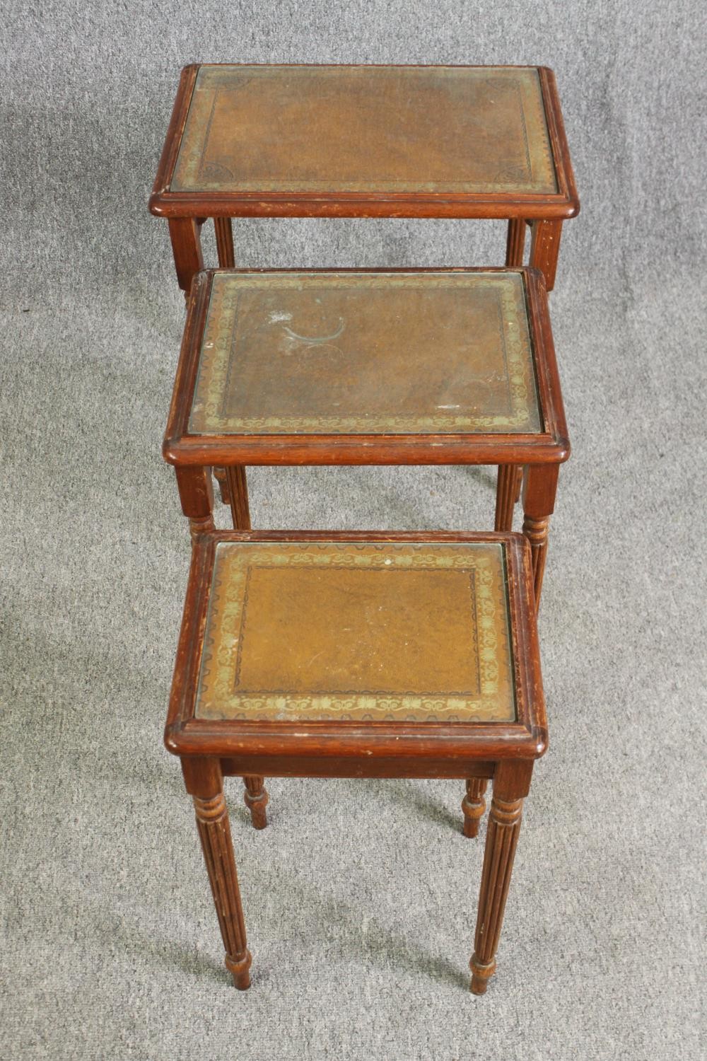
[[[520,831],[523,798],[528,794],[531,772],[532,762],[516,764],[511,760],[499,764],[494,778],[474,954],[470,962],[473,994],[484,994],[488,981],[496,971],[496,950]]]

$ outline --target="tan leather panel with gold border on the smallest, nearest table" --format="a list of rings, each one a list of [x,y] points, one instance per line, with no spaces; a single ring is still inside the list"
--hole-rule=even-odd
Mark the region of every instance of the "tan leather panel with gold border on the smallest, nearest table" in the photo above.
[[[502,546],[220,543],[196,715],[513,719]]]

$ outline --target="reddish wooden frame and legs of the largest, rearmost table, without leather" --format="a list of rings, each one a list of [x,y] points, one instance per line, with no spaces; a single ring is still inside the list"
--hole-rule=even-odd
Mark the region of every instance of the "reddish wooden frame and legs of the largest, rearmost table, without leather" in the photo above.
[[[580,204],[552,70],[538,77],[550,137],[558,191],[554,193],[472,192],[183,192],[171,181],[199,65],[184,67],[149,198],[151,211],[166,218],[179,286],[184,294],[204,268],[200,228],[213,218],[218,264],[234,267],[232,218],[495,218],[508,221],[506,264],[523,264],[526,226],[532,226],[530,264],[554,285],[562,223]]]

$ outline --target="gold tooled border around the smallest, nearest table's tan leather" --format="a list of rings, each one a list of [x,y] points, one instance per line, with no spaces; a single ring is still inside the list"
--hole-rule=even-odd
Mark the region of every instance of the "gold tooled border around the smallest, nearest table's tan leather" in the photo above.
[[[480,693],[238,693],[233,679],[249,568],[296,566],[456,570],[474,575]],[[196,694],[198,718],[340,721],[498,721],[516,718],[502,545],[219,542],[216,546]]]

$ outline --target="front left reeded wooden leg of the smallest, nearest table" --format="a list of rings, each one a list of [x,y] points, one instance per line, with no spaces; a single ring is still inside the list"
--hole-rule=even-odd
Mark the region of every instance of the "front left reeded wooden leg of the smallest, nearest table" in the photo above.
[[[182,759],[182,769],[187,790],[194,801],[196,828],[226,947],[226,968],[236,988],[245,991],[250,987],[252,959],[246,939],[220,764],[217,759]]]

